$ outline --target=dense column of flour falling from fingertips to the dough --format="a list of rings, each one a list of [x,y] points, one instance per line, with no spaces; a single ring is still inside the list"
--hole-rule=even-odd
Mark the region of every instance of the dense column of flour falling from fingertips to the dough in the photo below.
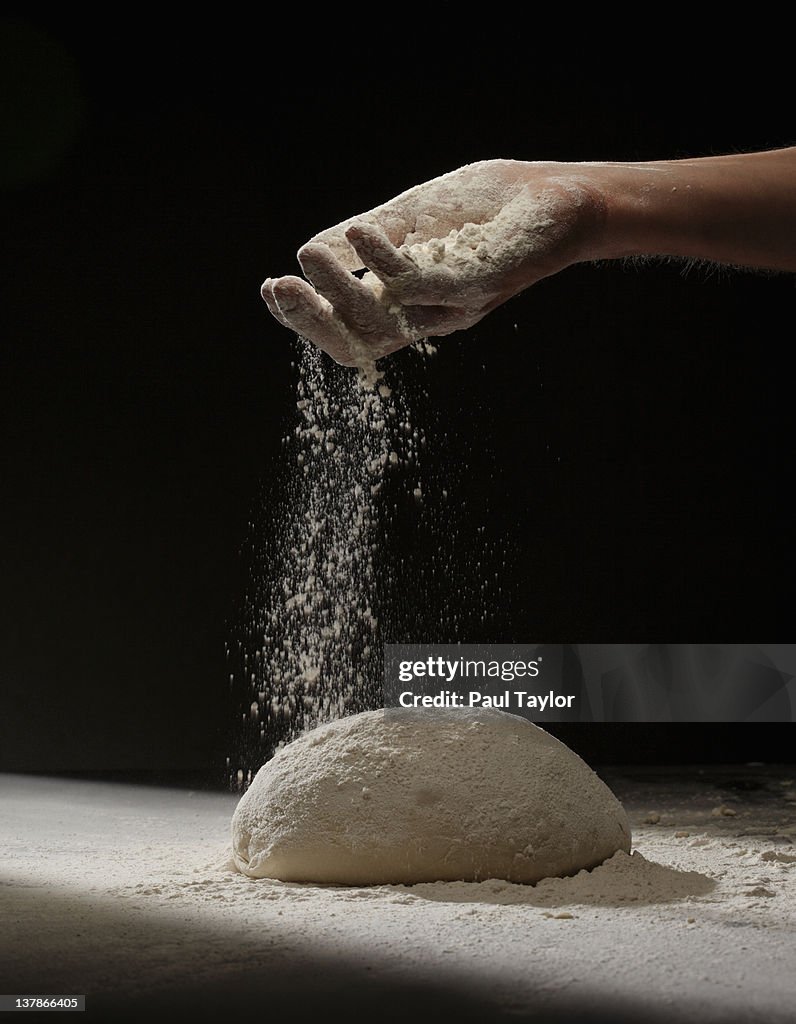
[[[266,496],[270,544],[252,569],[239,667],[247,776],[280,743],[378,696],[376,500],[390,465],[414,462],[419,437],[388,387],[364,388],[355,374],[330,384],[323,358],[301,352],[290,475]]]

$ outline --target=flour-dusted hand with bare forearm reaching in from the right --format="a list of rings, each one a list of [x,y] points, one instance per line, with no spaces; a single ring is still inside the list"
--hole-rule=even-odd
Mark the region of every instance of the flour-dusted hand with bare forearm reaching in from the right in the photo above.
[[[535,205],[543,215],[529,220]],[[420,269],[407,251],[466,223],[492,223],[502,258]],[[465,330],[575,263],[628,256],[796,271],[796,147],[635,164],[469,164],[321,231],[298,252],[306,280],[269,278],[262,297],[285,327],[362,366]],[[366,280],[351,272],[363,268]]]

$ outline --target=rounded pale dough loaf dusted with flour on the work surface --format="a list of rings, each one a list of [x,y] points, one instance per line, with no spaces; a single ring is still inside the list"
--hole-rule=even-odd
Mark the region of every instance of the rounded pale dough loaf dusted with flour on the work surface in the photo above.
[[[549,733],[487,710],[389,709],[320,726],[257,773],[233,817],[252,878],[534,883],[630,851],[622,805]]]

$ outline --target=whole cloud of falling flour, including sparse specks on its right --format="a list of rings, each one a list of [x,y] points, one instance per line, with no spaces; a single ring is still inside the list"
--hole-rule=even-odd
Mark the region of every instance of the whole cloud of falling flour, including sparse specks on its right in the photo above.
[[[403,354],[373,385],[302,343],[285,479],[262,497],[227,648],[234,788],[304,731],[382,707],[384,643],[472,639],[488,616],[495,552],[483,524],[462,528],[462,460],[446,460],[444,425],[408,366],[425,370],[431,353]]]

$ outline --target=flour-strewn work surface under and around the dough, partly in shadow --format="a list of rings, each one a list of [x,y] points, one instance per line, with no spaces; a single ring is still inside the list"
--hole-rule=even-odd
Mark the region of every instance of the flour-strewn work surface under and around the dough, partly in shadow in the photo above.
[[[601,774],[631,857],[368,889],[234,871],[233,795],[0,776],[0,993],[103,1020],[793,1022],[796,766]]]

